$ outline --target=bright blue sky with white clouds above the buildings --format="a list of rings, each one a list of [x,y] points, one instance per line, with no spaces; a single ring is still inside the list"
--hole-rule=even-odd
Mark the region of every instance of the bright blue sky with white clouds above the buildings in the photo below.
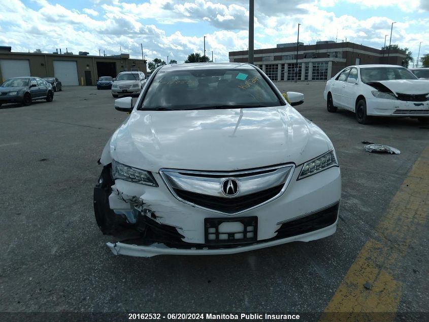
[[[0,45],[12,51],[55,48],[98,55],[129,53],[149,60],[183,63],[192,52],[213,50],[217,62],[228,51],[247,49],[248,0],[2,0]],[[380,48],[409,47],[429,53],[429,0],[255,0],[255,49],[277,43],[345,40]]]

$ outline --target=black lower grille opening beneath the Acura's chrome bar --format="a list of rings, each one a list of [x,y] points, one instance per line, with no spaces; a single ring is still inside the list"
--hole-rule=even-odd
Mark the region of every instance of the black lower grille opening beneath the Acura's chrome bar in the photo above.
[[[194,203],[197,206],[227,214],[234,214],[270,200],[280,193],[283,186],[284,184],[281,184],[270,189],[236,198],[209,196],[206,194],[184,191],[180,189],[174,189],[174,192],[183,200]]]

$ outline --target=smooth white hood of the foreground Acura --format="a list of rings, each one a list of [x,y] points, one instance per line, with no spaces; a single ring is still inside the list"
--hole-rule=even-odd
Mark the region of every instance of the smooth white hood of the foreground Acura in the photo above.
[[[294,108],[281,106],[135,110],[106,148],[110,158],[154,172],[160,168],[230,171],[302,164],[332,149],[332,143]],[[102,157],[102,162],[109,160]]]

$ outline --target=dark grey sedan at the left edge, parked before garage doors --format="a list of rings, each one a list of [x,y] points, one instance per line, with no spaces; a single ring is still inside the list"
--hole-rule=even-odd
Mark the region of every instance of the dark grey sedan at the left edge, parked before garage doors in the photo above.
[[[52,86],[39,77],[14,77],[7,79],[0,86],[0,105],[22,103],[30,105],[32,101],[52,102]]]

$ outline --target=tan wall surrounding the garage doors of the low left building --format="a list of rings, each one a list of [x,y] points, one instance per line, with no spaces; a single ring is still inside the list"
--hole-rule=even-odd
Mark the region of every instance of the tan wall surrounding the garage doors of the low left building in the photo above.
[[[13,60],[28,60],[30,73],[29,76],[37,77],[54,77],[53,61],[75,61],[78,72],[79,85],[86,85],[85,71],[91,72],[92,85],[95,85],[98,79],[97,62],[115,63],[116,72],[131,70],[138,68],[140,71],[147,73],[146,61],[122,57],[111,56],[84,56],[84,55],[60,55],[60,54],[45,54],[45,53],[25,53],[25,52],[0,52],[0,59]],[[3,79],[2,71],[0,71],[0,80]],[[61,80],[61,79],[60,79]],[[83,80],[83,81],[82,81]]]

